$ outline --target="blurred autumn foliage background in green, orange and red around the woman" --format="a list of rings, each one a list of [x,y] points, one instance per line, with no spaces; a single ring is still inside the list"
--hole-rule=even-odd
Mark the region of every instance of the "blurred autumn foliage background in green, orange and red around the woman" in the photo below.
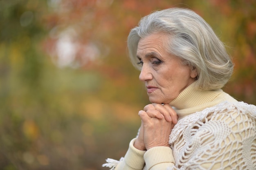
[[[0,0],[0,170],[108,170],[149,104],[126,39],[153,10],[185,7],[235,62],[224,91],[256,104],[255,0]]]

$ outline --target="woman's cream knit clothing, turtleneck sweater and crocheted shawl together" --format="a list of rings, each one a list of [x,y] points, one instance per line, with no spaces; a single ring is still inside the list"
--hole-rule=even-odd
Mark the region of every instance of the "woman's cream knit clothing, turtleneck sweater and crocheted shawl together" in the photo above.
[[[170,105],[179,116],[170,148],[138,150],[133,146],[135,138],[124,158],[107,159],[103,166],[111,170],[235,170],[239,164],[256,169],[255,106],[238,102],[221,89],[196,90],[195,83]]]

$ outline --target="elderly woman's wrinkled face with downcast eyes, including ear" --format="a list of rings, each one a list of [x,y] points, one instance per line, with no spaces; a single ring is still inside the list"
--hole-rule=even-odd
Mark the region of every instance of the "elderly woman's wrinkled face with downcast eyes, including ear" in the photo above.
[[[149,101],[168,104],[194,82],[197,73],[167,52],[167,35],[155,33],[139,40],[139,79],[145,82]]]

